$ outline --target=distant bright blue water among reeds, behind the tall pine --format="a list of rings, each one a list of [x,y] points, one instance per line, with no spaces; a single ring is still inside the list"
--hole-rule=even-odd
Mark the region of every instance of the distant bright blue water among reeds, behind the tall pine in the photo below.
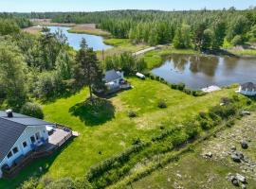
[[[101,36],[95,36],[95,35],[88,35],[88,34],[78,34],[78,33],[68,33],[68,29],[70,27],[64,27],[64,26],[47,26],[52,33],[56,32],[58,29],[63,30],[64,35],[67,37],[67,41],[70,46],[72,46],[74,49],[79,50],[80,49],[80,43],[82,41],[82,38],[84,38],[88,44],[89,47],[93,47],[95,51],[97,50],[106,50],[109,48],[112,48],[113,46],[107,45],[103,43],[103,38]]]

